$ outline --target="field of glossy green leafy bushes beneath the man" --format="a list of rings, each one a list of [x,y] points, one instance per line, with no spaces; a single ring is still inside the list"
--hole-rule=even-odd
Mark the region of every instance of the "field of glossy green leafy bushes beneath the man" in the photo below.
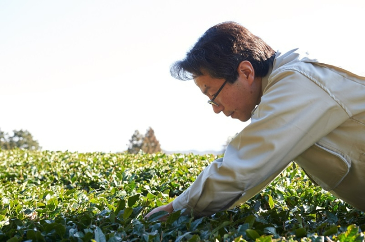
[[[236,209],[144,219],[215,158],[3,150],[0,241],[363,241],[364,213],[314,187],[295,165]]]

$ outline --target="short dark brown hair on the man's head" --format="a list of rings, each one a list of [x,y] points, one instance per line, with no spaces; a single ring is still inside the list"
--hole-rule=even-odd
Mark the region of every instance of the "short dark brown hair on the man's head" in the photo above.
[[[224,22],[209,28],[186,58],[174,63],[171,75],[188,80],[203,73],[213,78],[223,78],[234,83],[238,77],[237,67],[242,61],[249,61],[255,76],[265,76],[269,70],[268,59],[275,51],[258,36],[242,25]]]

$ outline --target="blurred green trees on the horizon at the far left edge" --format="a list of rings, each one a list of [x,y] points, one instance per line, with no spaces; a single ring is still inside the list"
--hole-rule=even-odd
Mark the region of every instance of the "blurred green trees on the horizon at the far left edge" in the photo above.
[[[42,148],[27,130],[14,130],[12,136],[0,130],[0,148],[14,149],[16,147],[29,150]]]

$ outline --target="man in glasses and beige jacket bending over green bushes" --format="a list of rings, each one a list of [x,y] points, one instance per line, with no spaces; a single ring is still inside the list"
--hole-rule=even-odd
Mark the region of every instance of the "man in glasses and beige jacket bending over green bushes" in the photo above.
[[[214,112],[251,123],[191,187],[147,217],[235,207],[292,160],[316,185],[365,211],[365,77],[298,50],[275,52],[234,22],[208,29],[171,74],[193,78]]]

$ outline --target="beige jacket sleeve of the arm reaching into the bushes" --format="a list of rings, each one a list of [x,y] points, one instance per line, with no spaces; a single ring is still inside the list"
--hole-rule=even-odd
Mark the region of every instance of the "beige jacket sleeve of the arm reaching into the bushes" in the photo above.
[[[175,198],[173,208],[208,216],[244,203],[347,118],[343,105],[311,76],[296,69],[274,74],[251,123],[230,142],[223,158]]]

